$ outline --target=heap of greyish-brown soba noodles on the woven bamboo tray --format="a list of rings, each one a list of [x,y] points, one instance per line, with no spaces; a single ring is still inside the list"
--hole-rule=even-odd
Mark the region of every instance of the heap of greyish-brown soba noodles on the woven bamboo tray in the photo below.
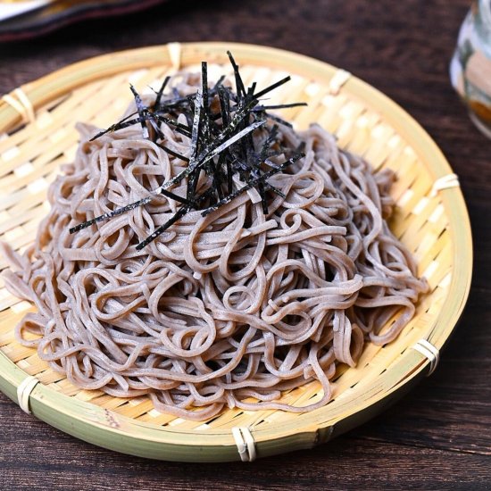
[[[195,84],[185,78],[174,91]],[[387,227],[393,173],[340,150],[317,124],[300,133],[279,125],[282,146],[304,143],[305,156],[270,177],[280,193],[267,213],[250,189],[206,216],[187,212],[142,250],[177,201],[157,195],[69,229],[150,196],[187,163],[138,124],[94,141],[96,128],[78,128],[75,161],[49,188],[35,243],[22,255],[2,245],[7,288],[37,308],[16,327],[18,341],[77,387],[147,395],[156,410],[190,420],[226,407],[311,411],[329,402],[337,364],[354,366],[367,341],[395,339],[427,289]],[[166,146],[189,153],[189,137],[160,128]],[[264,137],[254,136],[258,148]],[[206,188],[209,178],[199,179]],[[184,196],[186,184],[172,191]],[[315,404],[281,401],[312,380],[323,394]]]

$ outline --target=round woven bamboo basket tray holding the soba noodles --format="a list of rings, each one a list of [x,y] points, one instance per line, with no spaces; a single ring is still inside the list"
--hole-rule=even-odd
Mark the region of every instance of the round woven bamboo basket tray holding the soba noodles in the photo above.
[[[139,89],[179,67],[229,71],[226,50],[245,81],[258,87],[292,75],[275,91],[274,103],[298,100],[308,107],[282,116],[303,129],[312,121],[334,132],[338,144],[362,154],[375,168],[390,167],[396,212],[391,227],[415,255],[430,293],[402,334],[384,346],[366,345],[356,368],[340,368],[334,399],[314,412],[226,410],[210,421],[192,422],[154,411],[146,398],[122,399],[80,390],[49,370],[36,351],[18,345],[13,327],[31,305],[0,285],[0,389],[18,402],[29,376],[39,381],[28,394],[40,420],[87,442],[154,459],[237,461],[251,457],[233,428],[250,431],[255,454],[264,457],[329,441],[369,420],[413,387],[436,360],[420,353],[428,340],[440,350],[462,313],[470,288],[470,223],[458,181],[429,135],[398,105],[346,71],[299,54],[262,46],[192,43],[154,46],[79,62],[16,89],[0,103],[0,239],[23,249],[46,214],[46,189],[78,144],[75,121],[105,127],[130,101],[129,82]],[[223,64],[219,67],[218,64]],[[437,185],[435,185],[437,183]],[[0,268],[5,262],[0,258]],[[414,346],[416,348],[414,349]],[[437,353],[437,352],[436,352]],[[429,359],[432,359],[430,363]],[[28,384],[29,385],[29,384]],[[283,395],[291,404],[320,397],[310,383]],[[24,404],[25,405],[25,404]],[[247,445],[243,445],[247,446]],[[250,449],[249,449],[250,450]]]

